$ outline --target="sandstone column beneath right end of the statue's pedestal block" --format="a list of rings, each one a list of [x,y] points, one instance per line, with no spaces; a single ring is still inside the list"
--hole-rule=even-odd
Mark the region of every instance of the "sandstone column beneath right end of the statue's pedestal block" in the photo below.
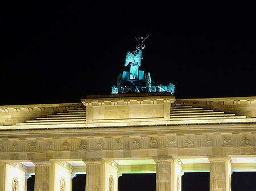
[[[171,191],[172,158],[154,158],[156,162],[156,191]]]

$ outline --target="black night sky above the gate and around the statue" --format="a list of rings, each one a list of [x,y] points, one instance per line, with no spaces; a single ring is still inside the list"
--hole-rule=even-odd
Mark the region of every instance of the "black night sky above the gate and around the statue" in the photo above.
[[[134,37],[148,34],[140,69],[154,82],[174,83],[176,99],[256,96],[255,3],[8,1],[2,9],[0,105],[109,94],[129,70]]]

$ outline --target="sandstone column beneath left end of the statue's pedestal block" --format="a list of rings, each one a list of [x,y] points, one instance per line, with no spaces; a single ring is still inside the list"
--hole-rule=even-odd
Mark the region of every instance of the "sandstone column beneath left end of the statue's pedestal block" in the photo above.
[[[101,165],[102,161],[84,160],[86,164],[85,191],[101,191]]]

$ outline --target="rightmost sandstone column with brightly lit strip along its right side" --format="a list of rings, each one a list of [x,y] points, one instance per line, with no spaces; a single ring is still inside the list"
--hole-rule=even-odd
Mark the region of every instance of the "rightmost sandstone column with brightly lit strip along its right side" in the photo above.
[[[229,158],[210,158],[210,191],[231,191]]]

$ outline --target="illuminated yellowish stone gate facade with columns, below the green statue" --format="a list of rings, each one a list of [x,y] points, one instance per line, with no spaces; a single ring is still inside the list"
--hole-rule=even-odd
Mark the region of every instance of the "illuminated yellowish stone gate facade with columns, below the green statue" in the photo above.
[[[31,174],[35,191],[69,191],[76,173],[86,191],[117,191],[122,173],[147,172],[157,191],[181,191],[184,172],[210,172],[210,190],[229,191],[233,171],[256,170],[256,97],[5,105],[0,130],[0,191],[26,190]]]

